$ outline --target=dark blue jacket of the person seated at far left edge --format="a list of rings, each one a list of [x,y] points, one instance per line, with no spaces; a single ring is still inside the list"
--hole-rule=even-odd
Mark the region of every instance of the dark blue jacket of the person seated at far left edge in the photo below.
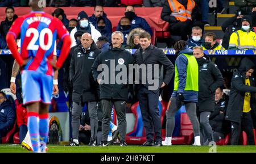
[[[5,101],[0,106],[0,132],[9,131],[15,123],[16,113],[12,105]]]

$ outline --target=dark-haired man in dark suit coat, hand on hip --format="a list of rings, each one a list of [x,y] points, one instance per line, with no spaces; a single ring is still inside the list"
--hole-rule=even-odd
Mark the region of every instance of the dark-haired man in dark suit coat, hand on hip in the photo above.
[[[150,44],[150,38],[148,32],[143,32],[139,36],[141,48],[134,53],[135,84],[138,84],[139,105],[147,136],[147,141],[142,146],[162,146],[162,126],[158,109],[159,89],[171,81],[174,65],[161,49]],[[162,66],[164,75],[160,77]],[[136,80],[138,77],[139,83]]]

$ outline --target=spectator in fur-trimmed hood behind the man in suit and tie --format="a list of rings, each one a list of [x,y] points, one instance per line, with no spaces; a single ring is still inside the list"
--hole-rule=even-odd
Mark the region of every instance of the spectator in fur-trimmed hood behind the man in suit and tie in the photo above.
[[[139,35],[141,35],[142,32],[146,31],[144,31],[142,28],[134,28],[131,30],[126,41],[127,49],[138,49],[141,46],[141,44],[139,44]]]

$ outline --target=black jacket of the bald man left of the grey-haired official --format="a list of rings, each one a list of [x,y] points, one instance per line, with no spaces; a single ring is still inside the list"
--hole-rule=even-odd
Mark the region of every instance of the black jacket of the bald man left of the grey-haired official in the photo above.
[[[91,66],[100,54],[100,49],[93,42],[90,49],[84,50],[82,45],[77,47],[71,58],[69,79],[73,85],[73,102],[79,103],[98,100],[98,84],[93,80]]]

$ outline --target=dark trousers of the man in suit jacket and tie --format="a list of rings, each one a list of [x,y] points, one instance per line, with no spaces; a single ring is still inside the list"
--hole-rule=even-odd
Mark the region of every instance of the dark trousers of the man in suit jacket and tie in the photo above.
[[[159,91],[153,92],[142,86],[138,91],[139,106],[144,127],[146,129],[147,141],[162,141],[162,125],[158,108]],[[153,131],[154,128],[154,131]]]

